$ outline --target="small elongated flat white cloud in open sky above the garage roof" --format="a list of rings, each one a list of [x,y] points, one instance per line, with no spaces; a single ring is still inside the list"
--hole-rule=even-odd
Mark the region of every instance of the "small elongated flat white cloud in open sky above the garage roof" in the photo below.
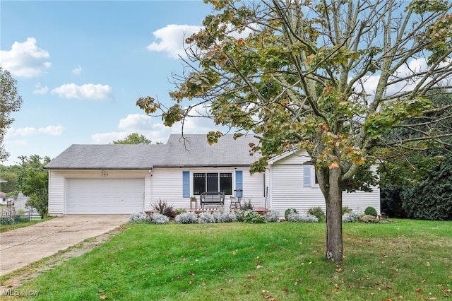
[[[58,88],[52,89],[52,94],[57,94],[61,98],[77,98],[89,100],[109,100],[113,98],[112,88],[109,85],[87,83],[76,85],[66,83]]]

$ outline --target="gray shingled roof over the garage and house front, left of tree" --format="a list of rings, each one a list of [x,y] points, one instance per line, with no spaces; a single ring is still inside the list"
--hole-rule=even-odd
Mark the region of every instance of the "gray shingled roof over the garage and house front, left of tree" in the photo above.
[[[73,144],[44,168],[48,170],[149,170],[153,167],[249,166],[258,155],[249,155],[253,136],[234,140],[232,135],[210,146],[206,135],[169,136],[167,144]]]

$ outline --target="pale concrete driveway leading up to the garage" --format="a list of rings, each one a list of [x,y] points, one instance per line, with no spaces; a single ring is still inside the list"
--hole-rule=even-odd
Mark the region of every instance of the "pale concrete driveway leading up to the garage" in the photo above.
[[[60,216],[0,233],[0,276],[127,223],[129,215]]]

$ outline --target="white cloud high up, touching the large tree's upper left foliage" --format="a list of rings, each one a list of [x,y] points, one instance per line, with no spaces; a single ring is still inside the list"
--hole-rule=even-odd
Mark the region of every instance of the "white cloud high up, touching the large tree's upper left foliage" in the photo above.
[[[169,57],[185,57],[185,39],[194,33],[198,33],[201,27],[194,25],[167,25],[153,32],[157,42],[152,42],[148,47],[150,51],[166,52]]]

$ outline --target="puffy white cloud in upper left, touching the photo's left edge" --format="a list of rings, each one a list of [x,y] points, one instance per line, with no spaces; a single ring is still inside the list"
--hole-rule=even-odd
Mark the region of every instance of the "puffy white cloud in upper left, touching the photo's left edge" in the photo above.
[[[42,75],[52,66],[46,61],[49,57],[49,52],[37,47],[34,37],[28,37],[25,42],[14,42],[11,50],[1,50],[0,64],[13,76],[30,78]]]

